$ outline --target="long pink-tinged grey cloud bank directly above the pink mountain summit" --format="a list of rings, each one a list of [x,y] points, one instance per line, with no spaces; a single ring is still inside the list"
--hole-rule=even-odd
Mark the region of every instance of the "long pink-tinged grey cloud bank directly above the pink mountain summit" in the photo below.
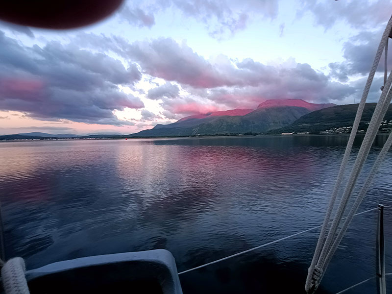
[[[270,66],[251,58],[238,61],[224,55],[207,61],[186,44],[180,45],[170,38],[135,42],[124,51],[145,73],[176,82],[188,93],[179,95],[178,86],[172,83],[148,92],[147,98],[162,99],[161,106],[174,116],[220,108],[255,108],[271,98],[342,101],[357,91],[355,87],[332,81],[309,64],[292,60]]]

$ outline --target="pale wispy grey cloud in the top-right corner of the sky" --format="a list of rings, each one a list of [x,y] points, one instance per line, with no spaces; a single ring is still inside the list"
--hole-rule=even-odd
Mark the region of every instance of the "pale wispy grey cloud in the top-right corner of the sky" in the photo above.
[[[390,0],[362,1],[360,4],[357,0],[302,0],[301,4],[297,16],[302,17],[310,11],[316,24],[325,28],[338,21],[344,21],[354,28],[374,27],[388,21],[392,10]]]

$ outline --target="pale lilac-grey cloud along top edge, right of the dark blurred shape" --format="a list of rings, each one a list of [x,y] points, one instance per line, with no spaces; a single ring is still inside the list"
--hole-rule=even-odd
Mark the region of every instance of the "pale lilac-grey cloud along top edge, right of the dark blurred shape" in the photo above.
[[[246,28],[250,16],[274,19],[279,0],[147,0],[124,5],[120,16],[131,25],[151,27],[155,14],[172,10],[204,23],[210,36],[221,39]]]

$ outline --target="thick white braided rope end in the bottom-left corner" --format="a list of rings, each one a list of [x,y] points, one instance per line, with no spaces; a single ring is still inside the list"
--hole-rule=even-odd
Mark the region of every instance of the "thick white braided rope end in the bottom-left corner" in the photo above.
[[[20,257],[11,258],[1,269],[5,294],[29,294],[25,278],[25,262]]]

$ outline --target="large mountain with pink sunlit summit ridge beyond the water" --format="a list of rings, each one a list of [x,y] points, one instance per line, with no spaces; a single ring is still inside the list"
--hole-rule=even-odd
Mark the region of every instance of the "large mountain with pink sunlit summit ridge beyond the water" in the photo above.
[[[165,137],[262,133],[289,125],[301,116],[335,104],[314,104],[301,99],[272,99],[257,109],[233,109],[204,115],[189,116],[171,124],[157,124],[130,137]]]

